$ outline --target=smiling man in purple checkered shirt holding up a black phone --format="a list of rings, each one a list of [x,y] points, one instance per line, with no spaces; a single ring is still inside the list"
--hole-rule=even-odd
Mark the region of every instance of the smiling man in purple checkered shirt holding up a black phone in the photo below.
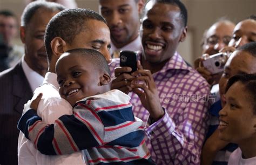
[[[127,74],[131,68],[118,67],[119,59],[110,64],[116,77],[111,87],[130,94],[134,115],[146,123],[147,146],[157,164],[200,164],[208,127],[210,88],[176,52],[186,37],[186,23],[180,1],[149,1],[138,70]]]

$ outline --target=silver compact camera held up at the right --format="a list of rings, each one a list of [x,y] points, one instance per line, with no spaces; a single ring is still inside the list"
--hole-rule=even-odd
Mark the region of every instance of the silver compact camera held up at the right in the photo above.
[[[207,57],[203,62],[204,67],[211,72],[212,74],[216,74],[219,72],[223,72],[224,65],[227,61],[227,53],[221,52],[217,54],[213,54]]]

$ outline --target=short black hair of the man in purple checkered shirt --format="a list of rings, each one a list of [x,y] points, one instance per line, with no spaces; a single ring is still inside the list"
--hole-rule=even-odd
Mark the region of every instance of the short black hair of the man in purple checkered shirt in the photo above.
[[[147,3],[149,3],[149,2],[167,3],[167,4],[178,6],[178,8],[180,9],[180,16],[183,20],[184,27],[187,26],[187,9],[186,9],[186,6],[181,1],[179,1],[179,0],[150,0]],[[145,13],[144,13],[144,15],[145,15]]]

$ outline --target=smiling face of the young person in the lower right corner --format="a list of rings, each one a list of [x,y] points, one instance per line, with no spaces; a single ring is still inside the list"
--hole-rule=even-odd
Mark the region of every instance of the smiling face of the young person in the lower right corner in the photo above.
[[[241,82],[234,83],[226,93],[226,105],[219,112],[219,138],[242,143],[255,138],[256,115],[250,93]]]

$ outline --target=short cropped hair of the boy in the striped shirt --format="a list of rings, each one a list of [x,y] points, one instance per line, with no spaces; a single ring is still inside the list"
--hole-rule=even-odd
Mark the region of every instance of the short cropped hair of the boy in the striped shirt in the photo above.
[[[79,56],[86,58],[87,61],[90,61],[93,64],[93,66],[95,66],[96,69],[99,69],[103,72],[107,72],[109,73],[109,75],[111,75],[109,64],[107,63],[103,54],[100,53],[99,51],[96,51],[93,49],[81,48],[81,49],[72,49],[72,50],[66,51],[65,53],[79,54]]]

